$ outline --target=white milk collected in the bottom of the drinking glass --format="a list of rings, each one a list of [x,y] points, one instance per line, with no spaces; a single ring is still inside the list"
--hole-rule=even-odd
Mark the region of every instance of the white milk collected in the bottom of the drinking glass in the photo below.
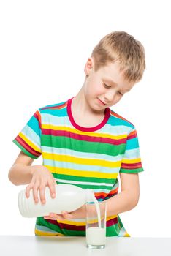
[[[106,244],[106,230],[99,227],[88,227],[86,230],[86,242],[91,245]]]

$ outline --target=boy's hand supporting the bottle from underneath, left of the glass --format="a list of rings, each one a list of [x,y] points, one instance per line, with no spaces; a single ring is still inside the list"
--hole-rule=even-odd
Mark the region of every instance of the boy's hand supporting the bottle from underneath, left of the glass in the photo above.
[[[61,214],[50,213],[48,216],[45,216],[44,219],[52,220],[65,220],[65,219],[85,219],[86,218],[86,205],[81,206],[75,211],[67,212],[62,211]]]

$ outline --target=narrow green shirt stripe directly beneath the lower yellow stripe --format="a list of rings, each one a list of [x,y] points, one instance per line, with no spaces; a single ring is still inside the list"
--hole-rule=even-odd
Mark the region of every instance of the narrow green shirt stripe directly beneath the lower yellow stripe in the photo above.
[[[79,177],[65,174],[53,173],[54,178],[65,179],[67,181],[85,181],[85,182],[96,182],[96,183],[115,183],[115,178],[94,178],[94,177]]]

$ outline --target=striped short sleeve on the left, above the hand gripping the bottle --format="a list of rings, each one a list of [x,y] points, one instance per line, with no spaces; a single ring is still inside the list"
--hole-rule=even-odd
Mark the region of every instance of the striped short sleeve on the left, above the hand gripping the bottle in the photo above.
[[[41,154],[41,116],[37,110],[13,140],[28,157],[37,159]]]

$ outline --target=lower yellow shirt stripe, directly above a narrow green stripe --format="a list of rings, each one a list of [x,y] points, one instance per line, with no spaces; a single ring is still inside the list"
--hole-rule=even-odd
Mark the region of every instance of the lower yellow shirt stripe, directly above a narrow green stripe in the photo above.
[[[45,165],[51,173],[58,173],[64,175],[71,175],[71,176],[79,176],[79,177],[95,177],[95,178],[117,178],[118,173],[99,173],[99,172],[89,172],[88,170],[74,170],[74,169],[67,169],[67,168],[58,168],[49,165]]]

